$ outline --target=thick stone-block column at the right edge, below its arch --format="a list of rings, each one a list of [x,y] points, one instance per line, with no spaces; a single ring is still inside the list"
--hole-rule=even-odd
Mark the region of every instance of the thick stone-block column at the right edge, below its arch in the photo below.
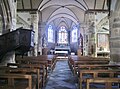
[[[120,64],[120,12],[114,11],[110,17],[110,59]]]

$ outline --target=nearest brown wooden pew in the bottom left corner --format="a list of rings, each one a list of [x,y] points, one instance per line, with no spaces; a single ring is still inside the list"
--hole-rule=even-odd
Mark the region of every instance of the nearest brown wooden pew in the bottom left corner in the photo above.
[[[35,89],[32,86],[32,76],[31,75],[27,75],[27,74],[1,74],[0,73],[0,80],[1,79],[8,79],[8,84],[0,85],[0,89]],[[27,80],[28,85],[26,86],[26,84],[20,84],[18,86],[16,86],[14,84],[15,79],[17,79],[18,82],[21,82],[19,80],[24,79]]]

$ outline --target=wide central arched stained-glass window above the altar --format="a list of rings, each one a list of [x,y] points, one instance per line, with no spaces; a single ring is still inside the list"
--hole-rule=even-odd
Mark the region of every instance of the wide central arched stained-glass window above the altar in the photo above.
[[[68,33],[65,29],[65,26],[61,26],[58,32],[58,43],[67,44],[68,43]]]

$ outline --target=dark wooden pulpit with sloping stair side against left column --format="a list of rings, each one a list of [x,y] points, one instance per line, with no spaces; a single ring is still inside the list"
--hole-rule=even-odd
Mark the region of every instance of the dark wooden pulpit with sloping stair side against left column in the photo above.
[[[19,28],[0,36],[0,61],[10,51],[23,55],[34,47],[34,31]]]

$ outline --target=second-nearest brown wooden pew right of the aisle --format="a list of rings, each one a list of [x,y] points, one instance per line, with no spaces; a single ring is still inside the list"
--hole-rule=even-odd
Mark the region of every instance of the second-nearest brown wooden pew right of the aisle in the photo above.
[[[87,79],[93,78],[114,78],[116,74],[119,74],[120,70],[80,70],[79,72],[79,89],[82,89],[82,82],[86,82]],[[101,76],[107,74],[106,77]],[[87,75],[87,76],[84,76]],[[90,75],[90,76],[88,76]],[[89,82],[88,82],[89,83]]]

